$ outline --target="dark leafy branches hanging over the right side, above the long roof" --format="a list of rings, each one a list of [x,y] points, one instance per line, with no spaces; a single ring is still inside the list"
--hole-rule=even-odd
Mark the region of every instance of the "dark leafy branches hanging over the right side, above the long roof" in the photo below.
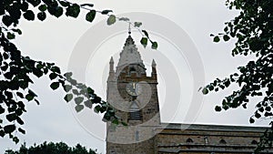
[[[209,91],[226,89],[237,85],[238,89],[222,100],[215,109],[247,108],[249,99],[261,98],[257,102],[254,115],[249,118],[254,123],[258,118],[272,118],[273,107],[273,1],[272,0],[227,0],[229,9],[237,9],[238,16],[226,23],[224,32],[214,36],[213,41],[228,41],[236,38],[232,56],[255,56],[246,66],[238,67],[238,72],[224,79],[215,79],[203,88],[203,94]],[[271,131],[271,130],[270,130]],[[271,139],[265,134],[264,139]],[[269,138],[270,136],[270,138]],[[268,138],[267,138],[268,137]],[[267,142],[268,143],[268,142]]]

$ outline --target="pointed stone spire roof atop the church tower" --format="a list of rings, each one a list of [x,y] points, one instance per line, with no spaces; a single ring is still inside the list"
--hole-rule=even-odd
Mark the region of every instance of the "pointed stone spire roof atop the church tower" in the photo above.
[[[137,51],[135,41],[131,35],[126,38],[126,43],[120,53],[117,67],[127,66],[129,64],[139,64],[140,66],[144,67],[141,56]]]

